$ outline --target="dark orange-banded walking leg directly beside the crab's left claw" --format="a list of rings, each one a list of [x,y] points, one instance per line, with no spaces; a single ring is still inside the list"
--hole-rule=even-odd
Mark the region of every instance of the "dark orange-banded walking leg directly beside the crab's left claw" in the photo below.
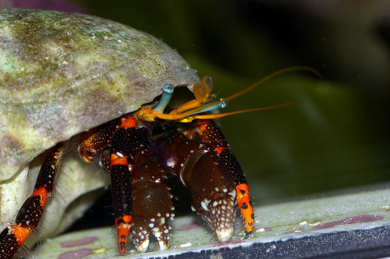
[[[118,250],[121,255],[126,252],[129,231],[133,224],[129,162],[133,158],[134,146],[137,145],[136,127],[134,117],[126,114],[96,129],[84,132],[78,148],[80,157],[86,162],[92,162],[98,151],[111,145],[110,158],[101,158],[100,165],[111,173]],[[105,150],[102,154],[105,154]],[[102,162],[104,159],[105,162]]]

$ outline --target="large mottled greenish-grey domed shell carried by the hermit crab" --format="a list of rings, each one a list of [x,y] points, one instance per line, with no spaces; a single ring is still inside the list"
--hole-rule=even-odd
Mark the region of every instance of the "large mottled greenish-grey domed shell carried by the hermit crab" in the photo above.
[[[129,26],[81,14],[0,9],[1,229],[31,194],[36,175],[27,176],[28,164],[37,155],[137,110],[165,83],[197,81],[176,51]],[[66,225],[71,220],[62,213],[72,200],[106,184],[97,168],[67,164],[80,163],[70,156],[57,182],[63,200],[50,199],[47,211],[54,217],[44,216],[43,231]],[[39,162],[30,167],[39,169]],[[78,212],[77,206],[68,210]]]

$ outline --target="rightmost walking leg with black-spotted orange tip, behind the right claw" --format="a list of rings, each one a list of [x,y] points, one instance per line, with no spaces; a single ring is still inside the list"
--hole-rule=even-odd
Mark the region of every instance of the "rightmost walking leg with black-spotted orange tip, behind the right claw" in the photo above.
[[[235,189],[237,191],[237,204],[240,207],[241,216],[245,222],[245,230],[247,232],[245,238],[247,238],[254,228],[254,209],[244,172],[234,154],[229,149],[229,144],[225,136],[214,121],[209,119],[195,120],[193,125],[195,125],[195,128],[193,127],[191,129],[192,131],[187,131],[186,134],[191,136],[194,133],[193,130],[196,130],[199,133],[200,139],[211,144],[229,168],[234,179]]]

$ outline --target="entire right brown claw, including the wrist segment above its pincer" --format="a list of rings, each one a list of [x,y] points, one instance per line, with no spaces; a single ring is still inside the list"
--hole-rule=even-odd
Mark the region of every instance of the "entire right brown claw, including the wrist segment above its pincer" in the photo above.
[[[233,235],[236,189],[233,176],[215,148],[179,132],[167,131],[154,144],[164,155],[162,167],[173,169],[192,198],[192,207],[215,230],[219,241]]]

